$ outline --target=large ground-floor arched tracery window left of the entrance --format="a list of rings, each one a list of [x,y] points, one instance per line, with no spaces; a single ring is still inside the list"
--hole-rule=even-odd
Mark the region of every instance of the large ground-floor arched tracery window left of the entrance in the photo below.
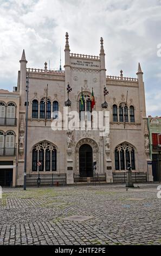
[[[37,166],[37,162],[41,165]],[[48,142],[42,142],[33,148],[33,171],[54,171],[56,170],[56,148]]]

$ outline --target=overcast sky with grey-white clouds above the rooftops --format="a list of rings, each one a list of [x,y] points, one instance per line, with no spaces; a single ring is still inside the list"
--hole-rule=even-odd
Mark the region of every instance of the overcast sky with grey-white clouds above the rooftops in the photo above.
[[[25,49],[29,68],[62,66],[70,52],[98,55],[104,38],[108,75],[144,72],[147,114],[161,116],[161,0],[0,0],[0,88],[17,83]]]

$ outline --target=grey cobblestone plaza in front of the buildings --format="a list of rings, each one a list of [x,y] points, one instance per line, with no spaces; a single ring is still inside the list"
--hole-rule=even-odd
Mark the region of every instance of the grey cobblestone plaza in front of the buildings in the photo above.
[[[0,245],[160,245],[158,185],[4,188]]]

